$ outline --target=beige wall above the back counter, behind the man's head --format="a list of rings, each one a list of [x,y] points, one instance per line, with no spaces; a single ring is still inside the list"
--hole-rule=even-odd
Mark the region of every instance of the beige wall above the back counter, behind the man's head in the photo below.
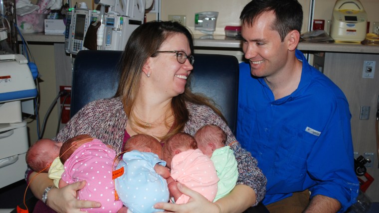
[[[239,15],[243,6],[250,0],[162,0],[162,20],[168,20],[168,15],[186,15],[186,25],[194,34],[194,13],[203,11],[218,11],[218,20],[214,34],[224,34],[226,25],[239,25]],[[299,0],[303,6],[304,19],[302,33],[308,31],[310,0]],[[314,19],[324,19],[325,23],[332,17],[334,0],[315,0]],[[361,0],[371,22],[370,32],[374,21],[379,21],[378,0]],[[326,25],[326,24],[325,24]],[[326,27],[326,26],[325,26]]]

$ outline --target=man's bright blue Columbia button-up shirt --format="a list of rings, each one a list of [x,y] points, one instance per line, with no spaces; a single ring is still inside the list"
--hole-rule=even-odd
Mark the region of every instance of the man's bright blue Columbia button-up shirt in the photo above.
[[[324,74],[303,62],[298,88],[275,100],[263,78],[240,64],[237,140],[267,177],[267,205],[309,189],[346,209],[359,192],[348,101]]]

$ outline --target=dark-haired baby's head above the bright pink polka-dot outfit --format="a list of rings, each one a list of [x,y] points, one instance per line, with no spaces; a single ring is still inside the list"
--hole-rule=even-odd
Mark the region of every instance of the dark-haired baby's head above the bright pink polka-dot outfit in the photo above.
[[[63,143],[59,153],[60,161],[62,164],[66,162],[66,160],[72,155],[72,153],[74,153],[77,148],[79,148],[84,143],[90,142],[92,140],[93,137],[89,136],[88,134],[81,134],[66,140]]]

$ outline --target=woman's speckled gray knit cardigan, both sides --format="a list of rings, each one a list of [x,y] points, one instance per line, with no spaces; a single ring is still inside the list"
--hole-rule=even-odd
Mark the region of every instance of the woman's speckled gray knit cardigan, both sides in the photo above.
[[[237,184],[247,185],[254,189],[257,197],[256,204],[258,204],[265,195],[267,180],[257,167],[256,159],[241,148],[227,124],[208,106],[192,103],[187,103],[186,106],[189,110],[189,120],[184,132],[194,135],[197,129],[203,125],[220,126],[227,134],[226,145],[231,146],[238,162]],[[101,99],[89,103],[79,110],[54,140],[66,141],[79,134],[88,134],[100,139],[105,144],[112,145],[116,152],[120,153],[126,122],[127,116],[120,98]]]

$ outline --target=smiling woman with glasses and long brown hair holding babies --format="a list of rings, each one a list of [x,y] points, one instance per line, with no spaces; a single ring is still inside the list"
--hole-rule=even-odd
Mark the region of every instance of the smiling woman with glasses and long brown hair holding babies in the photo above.
[[[192,35],[183,25],[163,21],[139,26],[123,52],[122,75],[115,98],[83,107],[55,139],[66,141],[78,134],[89,134],[120,153],[123,142],[138,133],[162,141],[178,132],[194,135],[205,124],[218,125],[226,132],[226,144],[231,144],[238,162],[239,178],[235,188],[229,195],[211,203],[180,185],[182,193],[192,198],[189,203],[158,203],[155,208],[174,212],[243,212],[263,199],[266,178],[257,168],[256,160],[234,142],[235,137],[219,110],[207,99],[190,92],[187,79],[193,69],[192,53]],[[49,185],[51,181],[41,174],[31,183],[31,190],[41,198]],[[84,186],[83,181],[51,189],[47,194],[47,206],[70,213],[80,212],[79,208],[99,207],[97,202],[75,199],[76,190]]]

